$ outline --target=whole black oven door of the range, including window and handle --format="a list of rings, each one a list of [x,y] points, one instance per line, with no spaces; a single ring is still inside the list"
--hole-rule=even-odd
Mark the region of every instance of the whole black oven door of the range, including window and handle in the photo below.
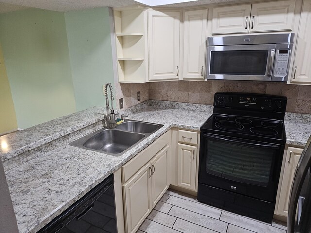
[[[274,201],[283,145],[201,133],[199,183]]]

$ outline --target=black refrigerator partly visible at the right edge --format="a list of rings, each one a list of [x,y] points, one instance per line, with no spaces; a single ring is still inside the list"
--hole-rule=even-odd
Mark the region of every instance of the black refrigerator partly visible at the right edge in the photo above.
[[[288,233],[311,233],[311,135],[299,159],[289,199]]]

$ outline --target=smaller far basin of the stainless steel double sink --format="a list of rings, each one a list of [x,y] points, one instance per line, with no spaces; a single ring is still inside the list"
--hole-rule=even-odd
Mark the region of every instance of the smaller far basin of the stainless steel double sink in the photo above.
[[[126,130],[136,133],[153,133],[157,129],[161,128],[163,125],[152,124],[141,121],[129,120],[125,121],[120,125],[116,125],[116,128],[119,130]]]

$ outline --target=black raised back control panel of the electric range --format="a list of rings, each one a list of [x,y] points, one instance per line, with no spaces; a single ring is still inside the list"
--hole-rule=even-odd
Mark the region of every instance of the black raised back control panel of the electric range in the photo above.
[[[214,96],[214,107],[231,109],[267,110],[271,112],[284,112],[287,98],[255,93],[217,92]]]

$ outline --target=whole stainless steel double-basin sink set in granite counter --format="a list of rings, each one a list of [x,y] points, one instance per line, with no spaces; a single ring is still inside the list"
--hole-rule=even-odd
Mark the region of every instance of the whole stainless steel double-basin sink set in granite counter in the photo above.
[[[161,127],[163,125],[127,120],[113,129],[103,128],[87,134],[69,145],[120,156]]]

